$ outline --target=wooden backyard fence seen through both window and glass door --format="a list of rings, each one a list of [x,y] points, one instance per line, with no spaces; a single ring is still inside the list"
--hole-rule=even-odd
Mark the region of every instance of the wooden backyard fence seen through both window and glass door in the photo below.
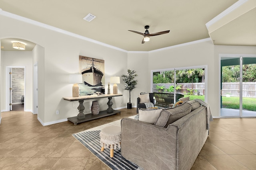
[[[223,82],[222,83],[222,96],[239,96],[239,82]],[[164,91],[167,92],[170,86],[174,86],[174,83],[161,83],[153,84],[153,92],[158,92],[156,86],[164,86]],[[181,89],[177,90],[176,93],[187,94],[190,91],[187,89],[194,89],[193,94],[204,95],[204,83],[177,83],[177,86],[181,85]],[[243,82],[243,97],[256,98],[256,82]]]

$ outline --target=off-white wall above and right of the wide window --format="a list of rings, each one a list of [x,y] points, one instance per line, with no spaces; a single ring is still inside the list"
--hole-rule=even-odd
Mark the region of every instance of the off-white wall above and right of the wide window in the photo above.
[[[215,106],[216,99],[209,97],[216,93],[211,90],[216,84],[212,77],[214,77],[214,74],[218,74],[214,64],[214,45],[212,45],[211,41],[199,41],[197,43],[191,43],[185,46],[149,53],[150,70],[202,65],[207,65],[208,67],[208,76],[206,77],[208,78],[208,98],[206,96],[207,102],[210,104],[210,106]],[[216,107],[211,107],[211,109],[214,116],[218,115],[218,109]]]

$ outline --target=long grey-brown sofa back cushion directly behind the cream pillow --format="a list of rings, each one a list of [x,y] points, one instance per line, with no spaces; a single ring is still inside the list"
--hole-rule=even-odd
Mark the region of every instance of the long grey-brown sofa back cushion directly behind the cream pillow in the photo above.
[[[154,125],[160,127],[167,127],[168,125],[180,119],[184,115],[190,113],[191,108],[191,104],[185,102],[176,107],[169,107],[163,109]]]

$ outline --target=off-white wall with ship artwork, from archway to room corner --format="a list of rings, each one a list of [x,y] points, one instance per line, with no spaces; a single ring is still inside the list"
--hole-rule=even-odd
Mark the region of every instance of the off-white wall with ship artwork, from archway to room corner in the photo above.
[[[41,105],[38,100],[38,118],[44,125],[65,121],[68,117],[78,114],[78,102],[64,101],[62,97],[72,96],[72,84],[68,83],[68,75],[79,71],[79,55],[105,61],[105,87],[107,87],[110,76],[126,74],[127,53],[124,51],[71,37],[5,16],[0,16],[0,23],[0,39],[7,37],[26,39],[44,48],[44,54],[38,55],[44,57],[44,59],[38,60],[38,97],[39,100],[43,100]],[[19,25],[18,30],[15,29],[16,25]],[[121,83],[118,86],[122,87],[123,85]],[[112,89],[112,85],[110,88]],[[123,88],[118,88],[118,93],[123,94],[123,91]],[[121,104],[121,100],[127,98],[125,95],[113,98],[114,104],[112,107],[125,107],[126,104],[124,102]],[[30,103],[32,103],[32,100]],[[101,99],[99,103],[100,110],[107,108],[107,99]],[[90,113],[89,106],[91,104],[92,101],[84,102],[86,113]],[[56,115],[56,110],[60,111],[59,115]]]

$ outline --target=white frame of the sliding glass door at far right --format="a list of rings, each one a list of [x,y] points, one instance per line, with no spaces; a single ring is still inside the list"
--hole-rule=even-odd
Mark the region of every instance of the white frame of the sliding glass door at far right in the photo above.
[[[219,117],[220,118],[239,118],[239,117],[243,118],[244,116],[242,116],[242,110],[241,110],[242,98],[240,98],[239,117],[238,116],[221,116],[221,108],[220,108],[220,106],[221,106],[221,104],[220,104],[220,102],[221,102],[221,100],[220,100],[221,86],[220,86],[220,84],[221,84],[221,74],[222,74],[221,73],[221,58],[222,57],[226,57],[226,58],[230,58],[230,59],[241,58],[241,57],[255,57],[256,58],[256,55],[255,54],[219,54],[219,75],[218,75],[219,76],[219,84],[218,84],[218,86],[219,86],[219,97],[218,97]],[[241,72],[242,72],[242,70],[240,68],[240,75],[241,75]],[[240,91],[242,92],[241,89],[242,89],[242,86],[240,86]],[[246,116],[246,117],[250,117],[250,116]]]

